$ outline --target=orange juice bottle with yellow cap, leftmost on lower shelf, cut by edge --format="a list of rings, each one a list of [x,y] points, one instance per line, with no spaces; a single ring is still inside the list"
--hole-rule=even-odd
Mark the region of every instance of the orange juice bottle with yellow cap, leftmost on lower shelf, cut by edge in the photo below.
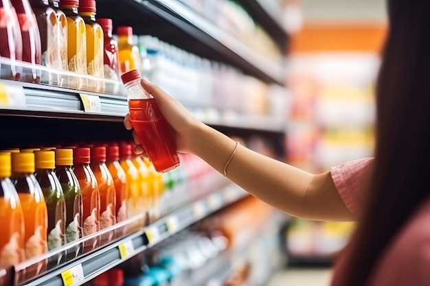
[[[24,260],[24,213],[11,175],[10,153],[0,152],[0,267]]]

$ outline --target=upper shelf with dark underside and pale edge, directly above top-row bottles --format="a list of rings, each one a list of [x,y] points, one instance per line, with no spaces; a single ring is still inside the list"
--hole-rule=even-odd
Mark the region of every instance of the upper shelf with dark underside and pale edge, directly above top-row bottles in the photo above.
[[[114,13],[117,9],[125,12]],[[231,64],[264,81],[285,84],[283,63],[253,51],[181,1],[99,0],[97,10],[98,16],[112,18],[115,27],[131,25],[135,34],[151,34],[196,55]]]

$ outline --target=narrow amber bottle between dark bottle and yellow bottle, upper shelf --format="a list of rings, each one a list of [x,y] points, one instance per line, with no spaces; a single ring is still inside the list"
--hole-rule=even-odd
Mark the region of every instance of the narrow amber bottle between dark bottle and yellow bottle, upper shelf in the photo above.
[[[60,69],[69,70],[69,60],[67,58],[67,17],[60,9],[60,0],[49,0],[49,7],[54,9],[58,22],[58,44],[60,45]],[[62,82],[60,82],[62,84]]]

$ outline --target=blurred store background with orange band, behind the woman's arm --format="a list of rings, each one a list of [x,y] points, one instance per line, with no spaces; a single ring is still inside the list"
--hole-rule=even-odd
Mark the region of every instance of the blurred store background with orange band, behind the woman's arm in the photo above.
[[[386,1],[284,4],[292,37],[286,161],[318,172],[372,156],[374,83],[387,33]],[[332,262],[353,228],[353,223],[292,219],[283,234],[286,267],[269,285],[329,285]]]

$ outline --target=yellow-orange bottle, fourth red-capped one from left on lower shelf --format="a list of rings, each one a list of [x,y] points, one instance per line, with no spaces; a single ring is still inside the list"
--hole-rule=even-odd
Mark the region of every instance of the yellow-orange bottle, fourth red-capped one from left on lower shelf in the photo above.
[[[135,217],[142,213],[139,209],[139,197],[141,187],[141,177],[139,171],[133,163],[133,150],[131,144],[120,144],[120,164],[127,176],[127,217]],[[144,226],[143,221],[133,224],[131,230],[138,230]]]

